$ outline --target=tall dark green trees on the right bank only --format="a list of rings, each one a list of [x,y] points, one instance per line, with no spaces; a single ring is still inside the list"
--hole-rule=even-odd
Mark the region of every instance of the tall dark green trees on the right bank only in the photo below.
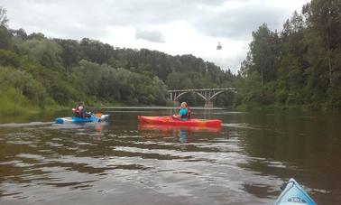
[[[341,1],[312,0],[279,33],[264,23],[240,75],[248,107],[341,109]]]

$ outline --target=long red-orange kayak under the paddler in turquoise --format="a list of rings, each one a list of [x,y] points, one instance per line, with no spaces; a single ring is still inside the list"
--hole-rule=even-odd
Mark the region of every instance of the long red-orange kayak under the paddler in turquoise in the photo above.
[[[137,116],[140,123],[168,126],[221,126],[220,119],[174,119],[171,116]]]

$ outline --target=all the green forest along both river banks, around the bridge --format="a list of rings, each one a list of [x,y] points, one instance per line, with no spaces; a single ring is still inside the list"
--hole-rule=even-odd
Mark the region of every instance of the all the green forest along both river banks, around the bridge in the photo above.
[[[88,105],[165,106],[167,89],[235,87],[223,107],[341,109],[341,3],[312,0],[281,32],[253,32],[238,74],[192,55],[51,39],[8,27],[0,7],[0,114]],[[184,97],[202,106],[198,96]]]

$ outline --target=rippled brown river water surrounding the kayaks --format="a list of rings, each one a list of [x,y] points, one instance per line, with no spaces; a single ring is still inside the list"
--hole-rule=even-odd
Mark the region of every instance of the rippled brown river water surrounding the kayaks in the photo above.
[[[194,108],[223,126],[180,129],[138,125],[172,109],[100,111],[107,123],[1,119],[0,204],[272,204],[291,177],[318,204],[341,204],[340,114]]]

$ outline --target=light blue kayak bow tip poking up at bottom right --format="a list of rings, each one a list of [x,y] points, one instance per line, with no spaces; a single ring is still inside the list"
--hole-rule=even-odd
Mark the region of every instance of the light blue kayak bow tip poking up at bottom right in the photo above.
[[[281,195],[278,197],[275,205],[316,205],[315,201],[312,200],[308,193],[300,186],[294,179],[290,179],[286,183],[286,186]]]

